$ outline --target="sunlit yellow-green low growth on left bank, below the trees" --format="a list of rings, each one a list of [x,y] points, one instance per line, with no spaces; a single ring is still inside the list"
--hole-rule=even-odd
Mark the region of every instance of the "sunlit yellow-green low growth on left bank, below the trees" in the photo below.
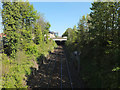
[[[33,44],[34,46],[34,44]],[[16,57],[9,58],[6,54],[2,55],[2,88],[27,88],[27,77],[32,73],[31,67],[35,63],[40,63],[41,55],[47,56],[49,51],[57,47],[56,43],[50,41],[41,43],[33,48],[32,44],[29,47],[31,53],[26,53],[24,50],[18,50]],[[39,58],[39,61],[38,61]]]

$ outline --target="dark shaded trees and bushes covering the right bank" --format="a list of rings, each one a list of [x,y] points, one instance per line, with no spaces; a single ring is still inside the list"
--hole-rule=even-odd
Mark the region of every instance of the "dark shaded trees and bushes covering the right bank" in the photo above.
[[[86,87],[120,88],[120,2],[93,2],[90,9],[77,28],[63,34],[68,36],[68,52],[81,52],[80,75]]]

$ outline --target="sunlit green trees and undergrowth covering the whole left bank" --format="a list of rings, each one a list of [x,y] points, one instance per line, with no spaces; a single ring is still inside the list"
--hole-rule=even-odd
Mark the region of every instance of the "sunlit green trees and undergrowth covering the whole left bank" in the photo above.
[[[7,35],[3,41],[2,88],[27,88],[34,62],[42,62],[40,56],[47,56],[57,45],[48,39],[49,22],[29,2],[7,0],[2,4]]]

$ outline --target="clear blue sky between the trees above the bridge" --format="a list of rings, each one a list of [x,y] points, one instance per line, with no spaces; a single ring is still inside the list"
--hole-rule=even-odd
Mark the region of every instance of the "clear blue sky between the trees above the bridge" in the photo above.
[[[44,14],[51,24],[50,31],[62,35],[67,28],[77,26],[83,15],[91,12],[91,2],[30,2],[35,10]]]

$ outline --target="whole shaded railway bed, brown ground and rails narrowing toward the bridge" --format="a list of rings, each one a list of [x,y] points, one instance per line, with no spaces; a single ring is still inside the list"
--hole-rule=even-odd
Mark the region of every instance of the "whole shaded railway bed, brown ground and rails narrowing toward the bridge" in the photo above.
[[[59,45],[29,77],[29,88],[83,88],[77,71],[67,60],[64,46]],[[71,68],[72,67],[72,68]],[[77,76],[76,76],[77,75]]]

